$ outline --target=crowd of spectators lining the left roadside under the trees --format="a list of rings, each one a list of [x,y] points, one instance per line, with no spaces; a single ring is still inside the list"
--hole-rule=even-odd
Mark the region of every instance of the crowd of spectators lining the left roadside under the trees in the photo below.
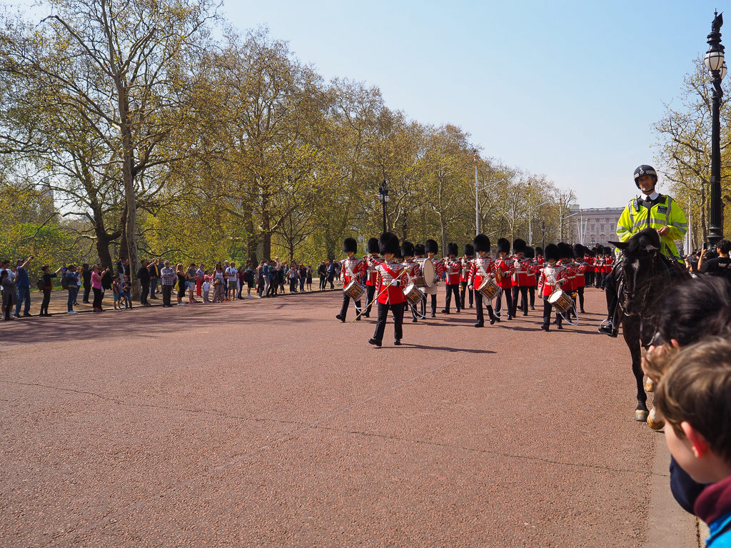
[[[29,264],[33,257],[18,260],[15,265],[10,261],[0,262],[0,287],[2,290],[2,316],[9,320],[13,317],[31,316],[31,276]],[[96,313],[103,308],[105,297],[111,294],[113,310],[133,308],[132,276],[129,260],[119,259],[114,268],[102,265],[67,265],[64,263],[55,272],[43,266],[35,282],[42,292],[39,316],[50,316],[48,305],[53,290],[53,278],[59,278],[61,289],[67,291],[67,313],[76,314],[74,306],[77,299],[91,304]],[[334,281],[340,279],[340,265],[336,261],[322,261],[317,269],[320,277],[319,290],[334,288]],[[236,265],[235,261],[217,262],[215,266],[190,263],[188,267],[158,257],[143,259],[137,270],[140,283],[140,306],[151,306],[150,300],[162,300],[164,307],[186,304],[216,303],[233,300],[260,299],[284,294],[289,286],[290,293],[312,291],[313,270],[311,265],[292,261],[287,265],[279,258],[263,260],[254,266]],[[254,294],[252,294],[252,292]],[[175,296],[175,302],[173,302]],[[91,297],[91,303],[89,299]],[[22,311],[22,314],[21,314]]]

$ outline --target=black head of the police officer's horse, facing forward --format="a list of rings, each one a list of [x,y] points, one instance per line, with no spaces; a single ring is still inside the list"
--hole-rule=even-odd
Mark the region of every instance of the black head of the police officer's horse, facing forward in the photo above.
[[[619,300],[630,316],[641,314],[649,304],[651,279],[656,275],[656,259],[660,251],[660,237],[654,229],[637,232],[626,242],[610,242],[622,250],[620,268],[622,292]]]

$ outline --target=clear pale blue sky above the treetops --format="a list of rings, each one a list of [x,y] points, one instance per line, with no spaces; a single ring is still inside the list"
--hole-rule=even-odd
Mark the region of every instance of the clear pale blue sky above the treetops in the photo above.
[[[653,164],[651,125],[705,53],[713,9],[693,1],[252,1],[224,15],[272,37],[327,79],[377,85],[423,123],[455,123],[484,156],[626,204]],[[731,12],[725,31],[731,44]],[[656,166],[659,167],[659,166]]]

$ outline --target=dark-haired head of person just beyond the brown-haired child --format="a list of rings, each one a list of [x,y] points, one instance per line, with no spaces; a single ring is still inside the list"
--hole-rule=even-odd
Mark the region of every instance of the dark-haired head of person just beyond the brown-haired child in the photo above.
[[[656,307],[658,332],[680,346],[706,336],[731,335],[731,284],[708,276],[673,286]]]

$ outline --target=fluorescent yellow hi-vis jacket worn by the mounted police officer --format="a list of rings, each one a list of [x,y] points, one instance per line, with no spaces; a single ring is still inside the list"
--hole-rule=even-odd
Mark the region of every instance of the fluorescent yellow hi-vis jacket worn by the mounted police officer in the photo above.
[[[617,221],[617,235],[621,241],[626,242],[642,229],[662,227],[667,227],[670,231],[660,237],[660,252],[668,259],[680,261],[681,254],[678,253],[674,240],[681,240],[688,232],[688,219],[678,202],[670,196],[660,194],[658,202],[650,209],[639,198],[632,199]]]

